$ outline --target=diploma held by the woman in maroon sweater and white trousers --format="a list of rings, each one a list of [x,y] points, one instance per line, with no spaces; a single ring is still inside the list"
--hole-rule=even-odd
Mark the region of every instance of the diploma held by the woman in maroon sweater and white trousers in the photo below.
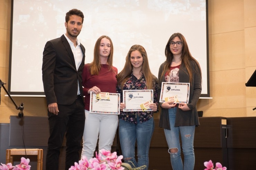
[[[90,93],[90,113],[120,114],[120,93]]]

